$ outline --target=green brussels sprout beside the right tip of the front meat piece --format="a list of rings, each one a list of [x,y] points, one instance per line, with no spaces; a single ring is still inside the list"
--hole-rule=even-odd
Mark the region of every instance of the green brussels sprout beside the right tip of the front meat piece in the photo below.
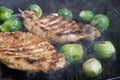
[[[80,44],[65,44],[60,48],[70,62],[78,62],[83,57],[83,48]]]

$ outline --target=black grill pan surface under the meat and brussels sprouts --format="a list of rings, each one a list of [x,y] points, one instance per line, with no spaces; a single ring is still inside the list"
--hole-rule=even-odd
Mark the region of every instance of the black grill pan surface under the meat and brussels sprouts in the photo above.
[[[25,72],[7,68],[0,63],[0,80],[120,80],[120,1],[119,0],[0,0],[0,6],[6,6],[15,11],[15,16],[20,17],[18,8],[25,10],[30,4],[38,4],[43,10],[43,15],[57,12],[59,8],[67,7],[72,10],[73,18],[82,22],[79,12],[84,9],[92,10],[94,13],[104,13],[110,18],[110,27],[101,33],[101,37],[95,41],[77,41],[84,45],[85,55],[83,59],[75,64],[70,64],[57,72]],[[24,26],[22,31],[27,31]],[[101,59],[91,49],[94,42],[98,40],[110,40],[116,48],[116,54],[108,60]],[[62,45],[54,45],[59,52]],[[87,78],[81,71],[82,63],[90,58],[96,57],[103,66],[103,73],[95,78]]]

